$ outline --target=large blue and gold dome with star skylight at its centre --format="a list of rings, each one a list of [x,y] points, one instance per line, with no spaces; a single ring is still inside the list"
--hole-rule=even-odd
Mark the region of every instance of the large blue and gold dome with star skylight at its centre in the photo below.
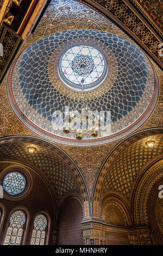
[[[54,112],[64,114],[65,106],[82,111],[82,77],[86,104],[92,111],[110,111],[111,130],[77,141],[75,134],[63,133],[61,121],[55,123]],[[65,145],[102,145],[127,136],[152,114],[158,93],[155,69],[137,46],[86,29],[57,32],[28,46],[8,78],[8,99],[19,120]]]

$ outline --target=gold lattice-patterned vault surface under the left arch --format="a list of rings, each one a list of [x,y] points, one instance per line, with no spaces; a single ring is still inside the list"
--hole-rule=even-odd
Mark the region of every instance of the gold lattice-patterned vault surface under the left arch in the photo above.
[[[17,142],[18,141],[18,142]],[[39,168],[51,182],[57,203],[67,194],[76,193],[81,195],[79,183],[73,172],[70,170],[71,163],[66,163],[66,156],[57,148],[52,150],[43,142],[31,141],[31,139],[12,139],[11,142],[1,141],[0,158],[19,160]],[[36,148],[34,153],[28,151],[28,147]],[[48,147],[47,147],[48,146]],[[72,166],[71,166],[72,169]]]

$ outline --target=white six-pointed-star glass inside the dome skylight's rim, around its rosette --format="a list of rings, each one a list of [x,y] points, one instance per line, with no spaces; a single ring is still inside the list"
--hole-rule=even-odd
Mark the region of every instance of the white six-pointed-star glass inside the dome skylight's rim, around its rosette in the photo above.
[[[61,77],[74,86],[82,87],[82,72],[74,70],[74,64],[79,61],[78,58],[87,57],[85,59],[86,67],[84,72],[84,87],[90,87],[91,84],[96,85],[105,72],[105,57],[95,47],[87,45],[78,45],[68,49],[60,58],[59,73]],[[88,67],[90,66],[90,68]]]

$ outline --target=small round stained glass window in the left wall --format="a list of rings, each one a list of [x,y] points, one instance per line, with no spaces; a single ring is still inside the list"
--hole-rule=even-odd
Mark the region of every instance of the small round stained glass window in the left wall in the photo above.
[[[17,171],[10,171],[3,179],[3,188],[9,195],[21,194],[26,187],[26,178]]]

